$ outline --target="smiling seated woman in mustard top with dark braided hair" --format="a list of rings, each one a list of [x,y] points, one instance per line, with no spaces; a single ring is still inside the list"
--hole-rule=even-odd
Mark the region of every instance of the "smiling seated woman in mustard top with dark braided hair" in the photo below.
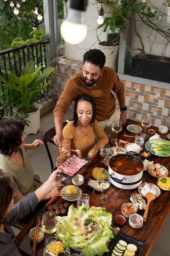
[[[83,94],[75,102],[73,120],[63,128],[63,161],[70,157],[70,149],[81,150],[82,157],[91,159],[100,150],[100,144],[108,143],[108,137],[96,120],[96,104],[90,95]],[[98,138],[95,143],[95,135]],[[78,152],[77,152],[78,153]],[[60,163],[60,155],[57,156]]]

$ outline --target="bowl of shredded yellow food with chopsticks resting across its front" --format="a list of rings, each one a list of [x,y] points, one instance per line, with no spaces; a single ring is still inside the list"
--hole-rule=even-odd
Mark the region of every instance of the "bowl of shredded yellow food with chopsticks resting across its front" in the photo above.
[[[82,190],[78,186],[70,185],[70,186],[65,186],[62,190],[61,193],[63,194],[70,194],[69,196],[64,196],[62,195],[62,198],[67,201],[76,201],[77,196],[75,194],[81,194]],[[71,196],[73,194],[73,197]]]

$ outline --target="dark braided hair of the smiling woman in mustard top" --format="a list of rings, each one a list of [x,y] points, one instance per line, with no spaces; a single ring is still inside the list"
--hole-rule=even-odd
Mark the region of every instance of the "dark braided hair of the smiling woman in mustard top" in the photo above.
[[[88,101],[91,103],[93,114],[92,114],[92,118],[91,118],[91,121],[89,122],[89,124],[90,124],[90,126],[94,126],[95,119],[96,119],[96,103],[95,103],[95,100],[93,99],[93,97],[91,97],[90,95],[87,95],[87,94],[83,94],[83,95],[79,96],[77,98],[77,100],[75,101],[74,114],[73,114],[73,121],[74,121],[73,126],[75,128],[77,127],[77,119],[78,119],[77,104],[79,101]]]

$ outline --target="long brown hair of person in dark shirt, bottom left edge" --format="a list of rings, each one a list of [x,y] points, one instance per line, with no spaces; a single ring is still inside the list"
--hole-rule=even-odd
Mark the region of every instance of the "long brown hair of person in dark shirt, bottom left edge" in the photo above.
[[[8,173],[0,169],[0,226],[7,222],[6,214],[13,198],[13,186]]]

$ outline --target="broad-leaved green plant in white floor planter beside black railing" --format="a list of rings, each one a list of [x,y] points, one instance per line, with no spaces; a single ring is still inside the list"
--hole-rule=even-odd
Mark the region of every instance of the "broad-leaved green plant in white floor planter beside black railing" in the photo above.
[[[45,79],[54,71],[53,67],[47,67],[39,74],[42,66],[34,67],[34,61],[29,61],[21,71],[20,77],[13,72],[7,71],[8,81],[0,76],[3,86],[9,89],[13,107],[17,113],[29,114],[29,127],[25,126],[26,134],[36,133],[40,129],[40,108],[36,101],[36,96],[41,90],[45,90],[48,83]]]

